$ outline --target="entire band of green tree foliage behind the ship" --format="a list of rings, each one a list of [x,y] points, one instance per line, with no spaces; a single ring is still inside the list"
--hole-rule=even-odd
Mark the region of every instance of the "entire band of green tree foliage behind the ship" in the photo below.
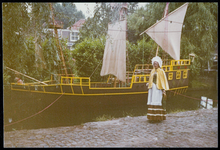
[[[62,6],[54,4],[53,10],[55,18],[64,22],[64,27],[84,17],[82,12],[77,11],[75,5],[63,4]],[[139,36],[139,34],[162,18],[166,3],[148,3],[139,9],[136,4],[128,5],[129,70],[132,70],[137,63],[150,63],[150,59],[155,55],[155,42],[148,35]],[[169,12],[182,4],[184,3],[170,3]],[[31,8],[31,12],[28,8]],[[78,44],[75,44],[72,55],[75,66],[70,51],[65,49],[66,41],[60,41],[69,70],[75,69],[78,76],[92,75],[93,80],[100,78],[105,35],[108,23],[115,19],[114,13],[116,12],[109,3],[97,4],[94,17],[86,20],[80,30],[81,38]],[[196,54],[195,62],[191,66],[193,77],[206,67],[215,50],[217,13],[217,3],[189,3],[188,5],[181,36],[180,57],[189,58],[190,53]],[[39,80],[47,79],[50,73],[61,73],[60,51],[52,34],[44,30],[48,27],[48,24],[44,23],[51,21],[48,3],[3,3],[2,18],[4,82],[12,82],[14,74],[6,70],[5,66]],[[40,45],[43,51],[46,69],[37,68],[35,65],[35,43]],[[162,50],[159,51],[159,56],[162,56]],[[97,70],[94,72],[96,67]]]

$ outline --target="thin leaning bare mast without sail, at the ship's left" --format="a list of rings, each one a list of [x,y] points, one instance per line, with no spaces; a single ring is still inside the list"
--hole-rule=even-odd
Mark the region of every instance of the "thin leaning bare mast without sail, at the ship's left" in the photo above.
[[[55,38],[56,38],[57,47],[60,50],[60,55],[61,55],[61,59],[62,59],[64,71],[65,71],[65,75],[68,76],[67,69],[66,69],[66,64],[65,64],[65,60],[64,60],[64,56],[63,56],[63,51],[62,51],[62,48],[61,48],[61,46],[59,44],[58,33],[57,33],[57,28],[61,28],[61,27],[58,27],[55,24],[54,15],[53,15],[53,8],[52,8],[52,4],[51,3],[50,3],[50,9],[51,9],[51,13],[52,13],[53,28],[54,28],[54,31],[55,31]]]

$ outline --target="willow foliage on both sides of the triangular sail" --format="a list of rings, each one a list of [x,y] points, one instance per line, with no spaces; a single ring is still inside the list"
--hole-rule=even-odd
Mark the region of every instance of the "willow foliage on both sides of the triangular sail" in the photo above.
[[[169,13],[184,3],[170,3]],[[133,31],[133,39],[136,43],[143,37],[140,33],[162,18],[166,3],[148,3],[143,8],[135,11],[128,18],[128,28]],[[192,66],[193,74],[198,74],[211,60],[217,43],[217,3],[189,3],[186,12],[181,37],[181,59],[189,58],[190,53],[195,53],[195,63]],[[150,40],[148,35],[146,40]],[[159,55],[160,56],[160,55]],[[206,66],[207,67],[207,66]],[[194,76],[196,77],[196,76]]]

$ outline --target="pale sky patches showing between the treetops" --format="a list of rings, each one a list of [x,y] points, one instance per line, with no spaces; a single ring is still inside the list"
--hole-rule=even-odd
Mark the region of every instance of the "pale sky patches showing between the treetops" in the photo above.
[[[86,18],[93,17],[94,7],[96,3],[74,3],[77,10],[81,10]],[[139,7],[146,5],[146,3],[138,3]]]

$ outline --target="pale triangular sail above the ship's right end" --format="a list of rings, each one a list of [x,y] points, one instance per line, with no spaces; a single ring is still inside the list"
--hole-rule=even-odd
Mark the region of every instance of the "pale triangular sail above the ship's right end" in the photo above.
[[[180,59],[181,32],[187,6],[185,3],[143,32],[175,60]]]

